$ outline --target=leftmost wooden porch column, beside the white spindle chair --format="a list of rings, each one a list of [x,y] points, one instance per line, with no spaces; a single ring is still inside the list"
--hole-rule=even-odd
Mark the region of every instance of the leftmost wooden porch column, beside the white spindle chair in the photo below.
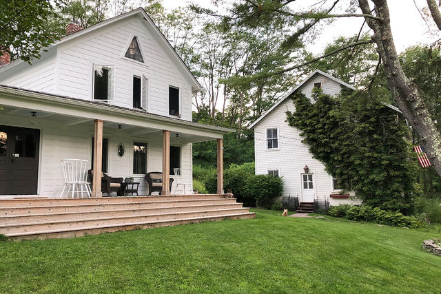
[[[101,171],[103,170],[103,120],[95,120],[94,162],[92,178],[92,197],[101,197]]]

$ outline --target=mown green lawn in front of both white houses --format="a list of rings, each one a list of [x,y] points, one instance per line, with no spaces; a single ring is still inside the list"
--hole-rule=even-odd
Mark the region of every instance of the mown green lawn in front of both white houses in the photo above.
[[[439,234],[279,214],[0,242],[0,292],[440,293]]]

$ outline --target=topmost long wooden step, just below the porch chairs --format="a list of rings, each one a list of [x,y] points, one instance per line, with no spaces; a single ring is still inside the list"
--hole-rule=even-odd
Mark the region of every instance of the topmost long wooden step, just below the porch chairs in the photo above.
[[[41,200],[36,200],[41,201]],[[77,202],[76,204],[47,204],[42,206],[37,203],[26,207],[0,207],[0,216],[20,216],[42,213],[63,213],[63,212],[88,212],[88,211],[106,211],[119,209],[147,209],[162,207],[187,207],[194,204],[226,204],[236,203],[236,199],[225,198],[203,198],[203,199],[184,199],[184,200],[163,200],[163,201],[141,201],[141,202],[112,202],[112,203],[90,203],[88,201]],[[1,204],[1,203],[0,203]]]

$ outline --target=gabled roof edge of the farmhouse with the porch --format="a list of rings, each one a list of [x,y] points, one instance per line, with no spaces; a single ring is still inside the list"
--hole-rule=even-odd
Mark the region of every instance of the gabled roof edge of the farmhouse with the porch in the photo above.
[[[43,50],[48,50],[50,48],[53,48],[61,43],[65,43],[67,41],[75,39],[79,36],[83,36],[84,34],[88,34],[89,32],[93,32],[94,30],[97,30],[99,28],[103,28],[104,26],[110,25],[111,23],[114,23],[116,21],[120,21],[121,19],[125,19],[127,17],[132,17],[133,15],[136,15],[136,14],[139,14],[140,17],[142,17],[145,21],[147,21],[147,23],[149,23],[152,26],[152,28],[154,29],[154,32],[156,32],[156,34],[158,35],[158,39],[161,39],[161,41],[163,41],[163,43],[165,43],[165,46],[167,48],[169,48],[170,52],[172,52],[172,55],[176,58],[176,61],[178,62],[178,64],[183,68],[183,70],[188,74],[189,78],[194,82],[194,86],[196,87],[196,89],[201,90],[202,89],[201,84],[196,80],[196,78],[194,77],[192,72],[190,72],[187,65],[185,65],[184,61],[181,59],[181,57],[178,55],[178,53],[176,53],[176,51],[174,50],[174,48],[172,47],[170,42],[165,38],[164,34],[159,30],[159,28],[154,24],[152,19],[150,19],[150,17],[145,12],[145,10],[141,7],[136,8],[135,10],[132,10],[130,12],[126,12],[124,14],[121,14],[117,17],[112,17],[111,19],[101,21],[100,23],[96,23],[94,25],[91,25],[88,28],[84,28],[83,30],[79,30],[78,32],[74,32],[73,34],[70,34],[68,36],[63,36],[59,41],[56,41],[55,43],[53,43],[52,45],[49,45],[46,48],[42,48],[41,52],[43,52]],[[20,63],[23,63],[23,62],[24,61],[22,61],[21,59],[17,59],[15,61],[12,61],[12,63],[9,63],[8,65],[4,65],[4,66],[0,67],[0,72],[8,70],[8,69],[14,67],[15,65],[19,65]]]

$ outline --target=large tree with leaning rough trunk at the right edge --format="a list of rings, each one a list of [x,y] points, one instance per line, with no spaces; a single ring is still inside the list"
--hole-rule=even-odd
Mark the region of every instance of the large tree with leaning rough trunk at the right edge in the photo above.
[[[343,50],[349,50],[356,48],[358,45],[371,42],[375,43],[384,76],[387,78],[387,86],[391,91],[393,100],[402,111],[404,118],[407,119],[411,127],[420,136],[424,150],[438,174],[441,175],[441,135],[435,127],[435,123],[433,123],[427,105],[424,103],[422,90],[409,79],[400,64],[398,53],[393,42],[387,0],[351,1],[348,3],[347,10],[341,13],[332,13],[340,0],[331,1],[330,6],[326,6],[329,1],[320,1],[317,6],[313,6],[311,10],[305,12],[291,10],[289,8],[289,3],[291,2],[291,0],[238,1],[233,5],[231,10],[232,15],[224,16],[224,19],[234,23],[234,25],[255,28],[256,25],[265,25],[269,19],[290,17],[295,23],[294,28],[296,31],[287,34],[284,45],[293,48],[293,45],[302,37],[308,34],[314,37],[316,33],[314,28],[316,28],[316,25],[323,19],[336,19],[340,17],[364,18],[365,23],[367,23],[373,33],[371,40],[357,40],[353,43],[343,45],[341,48],[334,50],[334,52],[319,56],[317,59],[285,67],[283,70],[277,69],[268,74],[283,74],[285,72],[298,70],[305,65],[342,52]],[[373,9],[369,6],[369,3],[373,3]],[[356,13],[358,9],[361,10],[362,13]],[[437,21],[436,17],[435,21]]]

